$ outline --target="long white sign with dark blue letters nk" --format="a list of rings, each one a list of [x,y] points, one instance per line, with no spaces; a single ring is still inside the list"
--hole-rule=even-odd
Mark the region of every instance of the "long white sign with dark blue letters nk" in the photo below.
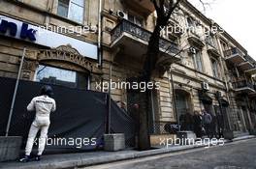
[[[33,42],[40,45],[55,48],[60,45],[70,44],[76,48],[84,57],[97,59],[97,45],[82,42],[80,40],[48,31],[42,27],[28,24],[14,18],[0,14],[0,35],[12,37],[26,42]]]

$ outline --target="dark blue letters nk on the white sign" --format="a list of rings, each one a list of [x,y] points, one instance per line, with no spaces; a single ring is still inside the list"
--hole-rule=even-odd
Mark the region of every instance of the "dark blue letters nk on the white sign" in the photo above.
[[[8,30],[10,32],[10,36],[16,37],[16,34],[17,34],[16,23],[9,22],[9,21],[3,19],[0,24],[0,33],[7,34]],[[31,42],[35,42],[36,41],[36,37],[35,37],[36,32],[37,31],[32,28],[29,29],[27,23],[22,23],[19,38],[21,38],[23,40],[28,39]]]

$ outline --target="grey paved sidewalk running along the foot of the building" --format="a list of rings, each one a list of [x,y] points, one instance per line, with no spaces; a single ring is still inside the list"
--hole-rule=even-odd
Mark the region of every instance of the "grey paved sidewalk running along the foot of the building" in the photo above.
[[[256,136],[247,135],[233,139],[232,141],[240,141],[244,139],[252,139]],[[225,143],[232,142],[225,140]],[[74,168],[76,166],[89,166],[102,163],[109,163],[124,159],[133,159],[144,157],[148,155],[161,155],[177,151],[184,151],[194,148],[201,148],[205,146],[198,145],[185,145],[185,146],[172,146],[169,148],[160,148],[144,152],[134,150],[125,150],[120,152],[90,152],[80,154],[64,154],[64,155],[44,155],[41,161],[32,161],[21,163],[16,161],[2,162],[0,168],[4,169],[56,169],[56,168]]]

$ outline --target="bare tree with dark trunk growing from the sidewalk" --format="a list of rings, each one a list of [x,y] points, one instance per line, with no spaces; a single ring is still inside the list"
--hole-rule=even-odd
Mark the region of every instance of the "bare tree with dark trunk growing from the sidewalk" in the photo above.
[[[159,41],[161,30],[168,26],[172,14],[183,0],[151,0],[157,14],[156,24],[148,42],[147,51],[144,60],[144,71],[140,81],[148,83],[153,70],[156,69],[156,63],[159,55]],[[206,5],[203,0],[199,0],[203,6]],[[139,150],[150,149],[150,135],[148,130],[148,115],[150,111],[150,91],[146,89],[140,93],[140,127],[139,127]]]

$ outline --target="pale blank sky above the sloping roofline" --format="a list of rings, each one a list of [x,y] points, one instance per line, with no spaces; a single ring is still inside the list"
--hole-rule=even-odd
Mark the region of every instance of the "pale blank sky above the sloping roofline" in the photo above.
[[[189,1],[240,42],[249,55],[256,60],[255,0],[205,0],[210,3],[206,13],[199,0]]]

